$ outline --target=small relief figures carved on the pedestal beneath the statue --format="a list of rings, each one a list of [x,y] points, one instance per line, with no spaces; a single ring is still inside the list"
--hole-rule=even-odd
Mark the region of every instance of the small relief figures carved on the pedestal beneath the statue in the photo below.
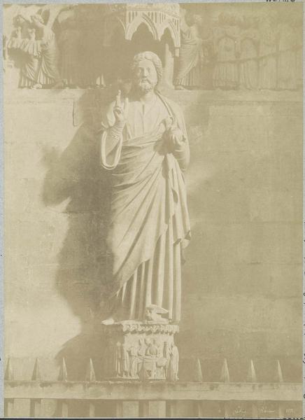
[[[161,344],[148,337],[128,347],[117,342],[112,354],[116,377],[178,380],[179,353],[173,342]]]

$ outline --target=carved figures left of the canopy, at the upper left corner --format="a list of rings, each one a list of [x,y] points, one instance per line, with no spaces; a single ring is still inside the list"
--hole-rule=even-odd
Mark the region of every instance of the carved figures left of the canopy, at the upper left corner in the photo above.
[[[100,51],[87,39],[88,34],[89,38],[94,34],[88,25],[80,25],[75,8],[68,9],[62,6],[49,18],[41,13],[15,16],[15,29],[3,37],[3,51],[5,58],[10,57],[20,68],[19,87],[104,85],[103,75],[96,76],[97,59],[92,58]],[[61,13],[65,18],[59,23]]]

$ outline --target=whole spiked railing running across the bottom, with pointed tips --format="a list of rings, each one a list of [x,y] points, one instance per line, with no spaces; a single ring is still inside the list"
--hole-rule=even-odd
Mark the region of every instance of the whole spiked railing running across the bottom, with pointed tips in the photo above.
[[[131,385],[124,379],[115,382],[98,379],[92,358],[87,361],[83,381],[70,379],[65,358],[61,360],[57,381],[45,380],[41,374],[45,370],[41,370],[41,359],[35,360],[30,380],[16,380],[12,360],[8,359],[5,370],[5,416],[41,417],[42,401],[45,399],[57,401],[56,414],[62,418],[69,417],[76,400],[83,401],[86,416],[90,418],[98,416],[98,407],[107,401],[112,402],[113,415],[123,417],[176,417],[180,416],[181,405],[188,402],[192,403],[193,414],[197,417],[209,418],[211,413],[207,413],[207,407],[212,403],[213,415],[226,418],[259,418],[270,412],[280,418],[287,414],[292,416],[294,401],[301,407],[299,412],[302,413],[302,384],[284,382],[279,360],[274,364],[276,382],[273,383],[258,381],[260,378],[257,377],[253,360],[248,363],[244,382],[232,381],[231,373],[234,377],[234,372],[231,372],[232,366],[227,359],[223,361],[219,380],[215,382],[203,381],[206,371],[203,374],[199,358],[193,360],[193,367],[192,381],[176,382],[148,381],[147,372],[142,368],[139,380]],[[29,400],[29,413],[20,413],[19,399]],[[293,416],[297,416],[297,413]]]

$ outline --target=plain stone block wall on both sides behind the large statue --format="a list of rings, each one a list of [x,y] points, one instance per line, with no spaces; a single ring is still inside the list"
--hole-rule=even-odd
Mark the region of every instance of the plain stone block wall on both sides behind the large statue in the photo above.
[[[66,356],[75,377],[77,360],[102,345],[94,323],[108,179],[92,120],[80,124],[95,112],[94,94],[5,97],[5,352],[16,366]],[[278,358],[284,379],[301,381],[301,93],[170,96],[185,111],[192,153],[180,355],[201,358],[204,380],[216,380],[226,357],[232,380],[244,379],[250,358],[270,380]],[[25,365],[19,375],[29,377]]]

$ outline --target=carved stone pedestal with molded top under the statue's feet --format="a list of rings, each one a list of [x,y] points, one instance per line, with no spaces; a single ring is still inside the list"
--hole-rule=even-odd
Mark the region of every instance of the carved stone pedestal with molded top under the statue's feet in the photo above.
[[[104,379],[176,381],[178,325],[128,321],[102,325]]]

